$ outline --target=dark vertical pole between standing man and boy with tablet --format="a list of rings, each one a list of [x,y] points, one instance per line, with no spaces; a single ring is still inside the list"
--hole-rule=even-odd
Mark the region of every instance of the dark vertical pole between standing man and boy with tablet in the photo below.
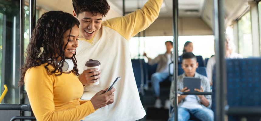
[[[178,97],[177,97],[177,77],[178,77],[178,0],[173,0],[173,82],[174,86],[174,121],[178,121]]]

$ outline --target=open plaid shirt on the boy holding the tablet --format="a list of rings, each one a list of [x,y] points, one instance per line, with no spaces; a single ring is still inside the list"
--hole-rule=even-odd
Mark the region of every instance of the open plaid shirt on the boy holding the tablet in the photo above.
[[[184,77],[186,77],[185,73],[178,76],[178,82],[177,82],[178,91],[183,90],[183,79],[184,79]],[[195,78],[201,79],[201,86],[203,87],[204,92],[211,92],[210,84],[209,84],[208,78],[206,76],[198,74],[197,72],[195,72]],[[211,103],[212,103],[211,95],[204,95],[204,96],[208,100],[208,103],[209,103],[208,108],[211,107]],[[203,107],[206,107],[202,104],[199,97],[198,96],[196,96],[196,97],[197,97],[198,103],[201,104]],[[170,104],[171,104],[172,107],[174,107],[174,100],[175,100],[175,97],[174,97],[174,82],[172,81],[171,87],[170,87]],[[178,104],[178,107],[180,107],[183,104],[184,100],[185,99],[180,101],[180,103]]]

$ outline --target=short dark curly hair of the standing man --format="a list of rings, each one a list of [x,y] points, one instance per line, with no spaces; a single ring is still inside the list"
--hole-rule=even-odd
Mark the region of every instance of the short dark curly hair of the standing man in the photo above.
[[[110,5],[107,0],[72,0],[73,7],[76,15],[85,11],[91,12],[92,15],[96,16],[97,14],[107,15],[110,10]]]

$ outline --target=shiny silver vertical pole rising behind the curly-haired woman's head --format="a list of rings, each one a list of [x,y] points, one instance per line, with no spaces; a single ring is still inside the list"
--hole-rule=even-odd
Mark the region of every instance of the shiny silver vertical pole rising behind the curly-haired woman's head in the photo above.
[[[35,22],[36,22],[36,5],[35,2],[36,0],[30,0],[29,2],[29,8],[30,8],[30,16],[29,16],[29,37],[30,37],[30,41],[31,41],[31,37],[32,37],[32,33],[33,33],[33,28],[35,27]]]

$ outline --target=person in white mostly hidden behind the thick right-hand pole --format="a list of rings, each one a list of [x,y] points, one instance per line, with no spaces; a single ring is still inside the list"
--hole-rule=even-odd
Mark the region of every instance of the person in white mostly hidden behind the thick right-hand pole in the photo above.
[[[243,58],[241,54],[235,53],[235,44],[233,41],[228,38],[228,35],[226,34],[226,42],[225,42],[225,58],[230,58],[230,59],[236,59],[236,58]],[[210,86],[212,86],[212,77],[213,77],[213,70],[214,70],[214,65],[216,64],[216,57],[215,55],[212,56],[211,58],[208,59],[208,64],[207,64],[207,77],[210,82]]]

